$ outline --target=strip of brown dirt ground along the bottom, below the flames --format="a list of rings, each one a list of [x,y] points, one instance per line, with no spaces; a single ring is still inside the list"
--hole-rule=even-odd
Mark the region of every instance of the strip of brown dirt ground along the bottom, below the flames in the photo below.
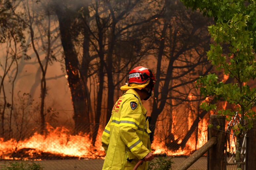
[[[174,162],[173,169],[178,167],[184,160],[185,157],[172,158]],[[0,166],[8,165],[9,162],[13,161],[0,161]],[[28,161],[31,163],[31,161]],[[36,164],[40,164],[44,167],[43,170],[101,170],[104,159],[69,159],[69,160],[42,160],[34,161]],[[207,169],[207,158],[201,157],[198,159],[188,170],[206,170]]]

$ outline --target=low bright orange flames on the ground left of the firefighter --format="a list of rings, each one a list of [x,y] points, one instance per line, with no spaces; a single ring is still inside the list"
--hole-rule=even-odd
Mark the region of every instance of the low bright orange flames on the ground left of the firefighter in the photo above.
[[[85,135],[82,132],[78,135],[71,135],[70,130],[67,128],[57,127],[54,129],[49,124],[47,124],[47,131],[47,136],[35,132],[33,136],[23,141],[17,141],[15,139],[4,141],[3,138],[0,138],[1,158],[18,159],[11,155],[24,148],[29,149],[24,152],[25,155],[29,155],[31,158],[35,155],[40,155],[41,152],[63,157],[74,156],[79,159],[105,156],[105,151],[99,142],[101,135],[98,135],[95,146],[91,146],[89,135]]]

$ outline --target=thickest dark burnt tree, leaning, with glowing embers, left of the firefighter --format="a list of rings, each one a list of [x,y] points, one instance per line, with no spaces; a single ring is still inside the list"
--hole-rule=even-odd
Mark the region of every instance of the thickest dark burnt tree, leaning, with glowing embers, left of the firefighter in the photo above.
[[[65,4],[67,5],[67,4]],[[90,132],[89,127],[81,126],[90,123],[88,110],[88,87],[87,87],[87,51],[84,51],[82,64],[79,63],[78,53],[75,49],[75,41],[79,34],[79,26],[76,24],[77,12],[82,6],[75,6],[73,10],[68,10],[62,3],[56,3],[54,10],[59,20],[61,42],[64,50],[64,61],[67,73],[68,85],[71,92],[72,103],[74,108],[75,133],[79,131]],[[70,5],[70,4],[68,4]],[[74,29],[76,28],[76,29]],[[84,30],[86,31],[86,30]],[[86,35],[86,34],[85,34]],[[87,38],[87,37],[85,37]],[[87,41],[84,41],[85,49]],[[82,72],[81,72],[82,71]],[[83,128],[82,128],[83,127]]]

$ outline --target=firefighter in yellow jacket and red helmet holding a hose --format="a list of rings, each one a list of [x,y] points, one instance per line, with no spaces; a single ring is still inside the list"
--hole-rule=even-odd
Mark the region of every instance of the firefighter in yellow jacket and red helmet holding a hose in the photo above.
[[[141,159],[144,162],[138,170],[147,169],[147,161],[154,159],[147,110],[141,100],[149,99],[156,79],[151,70],[139,66],[129,72],[128,81],[121,87],[126,92],[116,101],[102,134],[103,170],[132,170]]]

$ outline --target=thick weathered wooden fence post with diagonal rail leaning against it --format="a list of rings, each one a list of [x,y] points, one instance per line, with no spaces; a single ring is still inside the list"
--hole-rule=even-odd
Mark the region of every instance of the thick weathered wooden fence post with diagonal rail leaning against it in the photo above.
[[[217,144],[209,149],[208,165],[209,170],[226,170],[225,163],[225,116],[210,115],[209,140],[216,136]],[[219,126],[219,128],[217,128]]]

